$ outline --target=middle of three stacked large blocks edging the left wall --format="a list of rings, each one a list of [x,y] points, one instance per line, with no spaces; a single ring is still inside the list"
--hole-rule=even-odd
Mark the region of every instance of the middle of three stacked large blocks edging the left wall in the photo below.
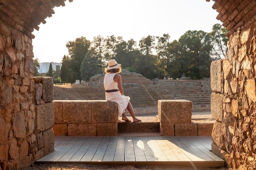
[[[43,132],[54,126],[54,104],[48,102],[45,104],[36,105],[36,130]]]

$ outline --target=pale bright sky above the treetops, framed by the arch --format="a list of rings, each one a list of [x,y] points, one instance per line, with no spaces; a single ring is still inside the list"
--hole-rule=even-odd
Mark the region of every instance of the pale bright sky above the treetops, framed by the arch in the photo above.
[[[186,31],[211,32],[218,13],[213,1],[206,0],[66,0],[64,7],[55,7],[55,13],[34,30],[32,40],[34,59],[39,62],[60,63],[68,54],[67,42],[81,36],[92,41],[115,35],[125,41],[170,35],[178,40]]]

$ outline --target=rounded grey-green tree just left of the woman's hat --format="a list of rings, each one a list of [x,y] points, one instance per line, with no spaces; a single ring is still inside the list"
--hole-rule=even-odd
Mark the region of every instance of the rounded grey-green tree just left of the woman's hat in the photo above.
[[[81,79],[89,82],[90,77],[102,73],[99,60],[94,51],[89,51],[81,64]]]

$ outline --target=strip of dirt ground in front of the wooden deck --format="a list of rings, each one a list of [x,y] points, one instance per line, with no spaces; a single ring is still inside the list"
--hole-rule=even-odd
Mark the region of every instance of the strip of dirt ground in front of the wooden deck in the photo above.
[[[130,166],[101,165],[90,163],[50,163],[35,164],[22,170],[231,170],[229,168],[182,167],[182,166]]]

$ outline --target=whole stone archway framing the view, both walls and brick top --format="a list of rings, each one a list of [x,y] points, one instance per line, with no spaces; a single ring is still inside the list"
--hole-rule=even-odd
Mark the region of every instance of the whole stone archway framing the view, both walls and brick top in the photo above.
[[[0,169],[18,169],[53,150],[51,128],[38,128],[33,79],[34,29],[66,0],[0,0]],[[73,0],[69,0],[72,2]],[[206,0],[210,1],[210,0]],[[212,63],[212,150],[227,166],[256,168],[256,1],[213,0],[229,32],[225,60]],[[47,80],[40,80],[46,82]],[[38,83],[38,82],[36,82]],[[40,85],[38,85],[40,86]],[[47,100],[47,99],[45,99]]]

